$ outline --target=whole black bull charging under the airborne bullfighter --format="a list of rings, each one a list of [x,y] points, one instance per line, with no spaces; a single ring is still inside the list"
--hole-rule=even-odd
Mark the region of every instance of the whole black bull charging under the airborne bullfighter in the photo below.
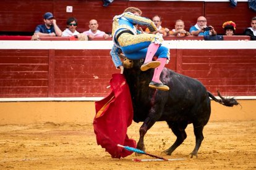
[[[153,69],[140,71],[143,60],[124,60],[124,76],[129,84],[134,107],[134,121],[143,124],[140,127],[140,139],[137,148],[145,150],[144,136],[156,121],[166,121],[177,139],[164,152],[171,155],[186,139],[186,127],[192,123],[195,134],[195,148],[190,158],[197,157],[203,140],[203,127],[208,123],[211,113],[210,98],[228,107],[237,105],[235,99],[216,99],[197,79],[178,74],[168,68],[161,73],[161,81],[170,87],[170,91],[151,89],[148,84]]]

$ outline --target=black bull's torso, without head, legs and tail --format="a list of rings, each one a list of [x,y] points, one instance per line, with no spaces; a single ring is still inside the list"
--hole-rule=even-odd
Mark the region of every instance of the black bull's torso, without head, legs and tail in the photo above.
[[[153,111],[160,114],[156,121],[190,121],[193,117],[205,119],[210,116],[210,99],[200,81],[164,68],[161,81],[170,87],[170,91],[156,91],[148,87],[153,73],[153,69],[140,71],[139,67],[125,73],[134,105],[135,122],[144,121],[149,116],[153,103],[163,107],[162,111],[157,108]]]

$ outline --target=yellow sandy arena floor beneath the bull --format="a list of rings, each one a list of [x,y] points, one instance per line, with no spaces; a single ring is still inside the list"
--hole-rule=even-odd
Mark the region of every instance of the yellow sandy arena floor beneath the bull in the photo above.
[[[139,139],[141,123],[132,123],[128,135]],[[172,156],[161,151],[176,137],[164,122],[156,123],[145,136],[147,152],[186,160],[134,162],[113,159],[96,144],[92,124],[30,124],[0,126],[0,169],[256,169],[256,121],[213,121],[204,129],[205,139],[197,159],[192,125],[187,139]]]

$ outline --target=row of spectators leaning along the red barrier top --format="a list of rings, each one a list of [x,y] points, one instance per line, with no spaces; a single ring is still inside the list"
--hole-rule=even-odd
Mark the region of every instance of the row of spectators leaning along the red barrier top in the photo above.
[[[36,26],[35,33],[32,37],[33,40],[39,40],[41,36],[74,36],[79,40],[88,40],[93,38],[109,38],[110,34],[105,33],[104,31],[98,30],[97,20],[90,20],[88,31],[79,33],[76,28],[78,26],[77,19],[70,17],[67,19],[67,28],[64,31],[61,31],[58,27],[56,20],[51,14],[51,12],[46,12],[43,15],[44,23]],[[217,32],[215,28],[211,25],[207,25],[207,18],[200,16],[197,18],[197,22],[194,26],[191,26],[189,31],[186,30],[183,20],[176,20],[174,28],[169,30],[169,28],[164,28],[161,26],[162,20],[158,15],[153,16],[153,23],[155,23],[157,30],[151,32],[148,28],[143,31],[140,28],[140,32],[147,34],[160,34],[161,36],[215,36]],[[223,33],[226,36],[233,36],[236,34],[236,23],[233,21],[228,21],[223,23]],[[256,40],[256,17],[253,17],[250,23],[250,27],[246,28],[244,35],[250,36],[251,40]]]

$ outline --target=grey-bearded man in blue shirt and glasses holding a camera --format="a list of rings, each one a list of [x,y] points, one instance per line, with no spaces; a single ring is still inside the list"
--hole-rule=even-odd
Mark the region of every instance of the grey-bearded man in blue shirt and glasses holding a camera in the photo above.
[[[189,32],[195,36],[208,36],[217,34],[213,26],[207,26],[207,19],[203,16],[197,18],[197,23],[194,26],[191,26]]]

